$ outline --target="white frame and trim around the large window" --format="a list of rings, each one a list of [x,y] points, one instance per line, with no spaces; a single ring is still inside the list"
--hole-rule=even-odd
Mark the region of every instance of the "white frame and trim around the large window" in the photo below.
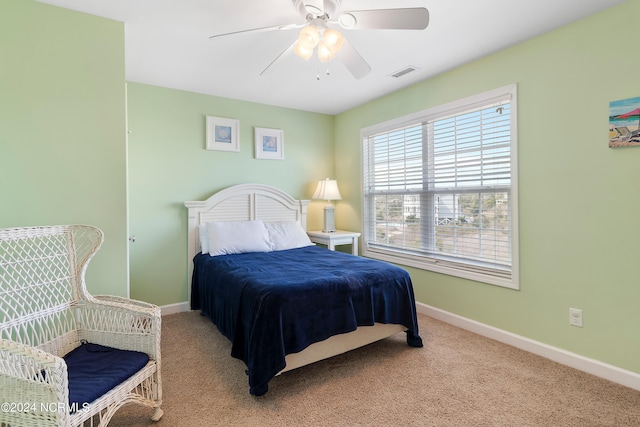
[[[474,265],[474,268],[461,268],[464,263],[456,261],[448,262],[446,258],[434,257],[429,255],[421,255],[414,251],[403,251],[401,249],[390,249],[380,247],[379,245],[369,244],[369,233],[367,217],[372,217],[372,213],[367,215],[366,200],[366,174],[369,170],[368,159],[366,158],[365,144],[368,144],[368,138],[392,131],[398,128],[410,126],[418,123],[426,123],[434,121],[445,116],[452,116],[458,113],[466,112],[470,109],[482,107],[492,102],[502,99],[509,99],[510,103],[510,222],[511,222],[511,273],[507,276],[501,276],[496,273],[496,269],[489,269],[483,272],[482,267]],[[520,289],[519,278],[519,226],[518,226],[518,122],[517,122],[517,85],[511,84],[498,89],[489,90],[467,98],[449,102],[443,105],[435,106],[426,110],[422,110],[413,114],[409,114],[396,119],[388,120],[382,123],[374,124],[360,130],[360,157],[361,157],[361,188],[362,188],[362,255],[369,258],[380,259],[396,264],[407,265],[422,270],[433,271],[437,273],[447,274],[455,277],[470,279],[491,285],[497,285],[505,288]],[[424,222],[424,221],[423,221]],[[427,223],[421,224],[421,227],[429,227]],[[473,263],[468,263],[472,265]]]

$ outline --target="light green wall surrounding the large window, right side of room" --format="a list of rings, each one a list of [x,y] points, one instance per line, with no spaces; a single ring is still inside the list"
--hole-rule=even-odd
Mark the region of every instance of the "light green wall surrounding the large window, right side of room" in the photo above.
[[[640,372],[640,148],[608,148],[609,102],[640,96],[638,16],[627,2],[337,116],[338,226],[361,229],[362,127],[517,83],[521,289],[409,269],[416,298]]]

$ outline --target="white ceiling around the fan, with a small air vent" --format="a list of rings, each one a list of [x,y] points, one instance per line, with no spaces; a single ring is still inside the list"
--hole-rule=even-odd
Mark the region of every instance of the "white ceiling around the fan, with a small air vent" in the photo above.
[[[626,0],[342,0],[347,10],[426,7],[426,30],[341,30],[371,65],[355,79],[334,60],[291,54],[264,74],[298,29],[211,35],[304,23],[292,0],[39,0],[125,23],[126,80],[338,114]],[[418,70],[389,77],[407,66]],[[316,76],[320,70],[320,79]]]

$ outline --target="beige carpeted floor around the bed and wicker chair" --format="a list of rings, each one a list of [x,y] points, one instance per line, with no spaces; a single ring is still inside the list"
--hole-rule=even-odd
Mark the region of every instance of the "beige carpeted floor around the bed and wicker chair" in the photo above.
[[[310,366],[249,394],[244,364],[197,312],[163,318],[164,417],[122,408],[111,427],[638,426],[640,392],[419,315],[404,334]]]

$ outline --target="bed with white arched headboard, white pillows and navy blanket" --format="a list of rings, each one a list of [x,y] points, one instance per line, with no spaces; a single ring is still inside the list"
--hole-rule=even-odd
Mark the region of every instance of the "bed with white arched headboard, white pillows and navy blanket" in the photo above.
[[[308,204],[262,184],[185,202],[191,308],[232,342],[256,396],[282,372],[402,331],[422,347],[409,274],[313,245]]]

